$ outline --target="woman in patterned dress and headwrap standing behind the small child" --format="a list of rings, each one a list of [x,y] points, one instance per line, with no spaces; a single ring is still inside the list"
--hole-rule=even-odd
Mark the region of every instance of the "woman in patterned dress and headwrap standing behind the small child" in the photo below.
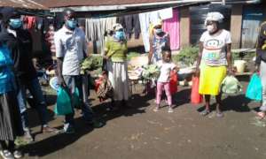
[[[150,38],[149,64],[156,64],[160,61],[162,57],[161,48],[169,48],[170,45],[169,34],[163,32],[161,26],[160,19],[153,23],[153,33]]]

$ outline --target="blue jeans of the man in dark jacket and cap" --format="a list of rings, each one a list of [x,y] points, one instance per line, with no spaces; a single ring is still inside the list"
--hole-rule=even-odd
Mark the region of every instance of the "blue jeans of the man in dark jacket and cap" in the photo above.
[[[46,102],[43,97],[43,91],[37,78],[31,79],[27,82],[18,82],[18,94],[17,99],[20,106],[20,114],[22,119],[23,128],[28,128],[28,115],[26,106],[26,90],[29,90],[30,94],[33,95],[35,108],[38,112],[39,118],[42,125],[47,125],[47,109]]]

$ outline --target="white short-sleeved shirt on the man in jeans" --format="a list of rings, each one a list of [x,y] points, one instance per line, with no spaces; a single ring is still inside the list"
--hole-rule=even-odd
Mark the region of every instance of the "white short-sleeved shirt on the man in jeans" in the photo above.
[[[76,27],[74,31],[63,26],[54,34],[56,57],[63,57],[62,74],[80,75],[80,63],[87,46],[85,34],[81,28]]]

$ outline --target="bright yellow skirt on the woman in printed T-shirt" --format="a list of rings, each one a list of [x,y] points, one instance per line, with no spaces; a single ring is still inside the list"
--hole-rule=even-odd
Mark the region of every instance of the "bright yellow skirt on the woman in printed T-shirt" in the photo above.
[[[200,95],[219,95],[226,76],[226,66],[202,65],[200,69]]]

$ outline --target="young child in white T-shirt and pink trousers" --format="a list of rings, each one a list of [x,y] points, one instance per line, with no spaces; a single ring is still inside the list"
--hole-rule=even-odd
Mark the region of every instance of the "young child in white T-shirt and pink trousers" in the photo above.
[[[168,47],[162,48],[162,60],[158,62],[158,66],[160,67],[160,76],[157,80],[157,93],[156,93],[156,104],[157,106],[153,109],[154,111],[158,111],[160,109],[160,100],[163,88],[168,98],[169,109],[168,112],[173,112],[172,108],[172,95],[170,92],[170,72],[177,71],[176,64],[172,63],[171,59],[171,49]]]

